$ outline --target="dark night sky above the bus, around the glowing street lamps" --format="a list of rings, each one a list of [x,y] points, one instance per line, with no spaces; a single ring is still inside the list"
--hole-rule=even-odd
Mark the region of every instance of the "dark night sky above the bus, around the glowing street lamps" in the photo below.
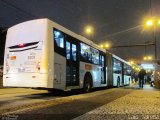
[[[141,24],[146,16],[159,17],[159,13],[160,0],[0,0],[0,27],[49,18],[97,44],[133,45],[154,41],[153,31],[143,30]],[[94,27],[92,36],[84,33],[88,24]],[[158,51],[159,33],[157,28]],[[126,60],[142,59],[145,54],[154,57],[154,46],[109,51]]]

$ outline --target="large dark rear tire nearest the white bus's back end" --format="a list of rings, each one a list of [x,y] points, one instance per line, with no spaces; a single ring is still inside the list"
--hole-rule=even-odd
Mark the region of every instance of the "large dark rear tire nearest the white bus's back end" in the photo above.
[[[92,88],[92,77],[90,75],[86,75],[84,78],[83,90],[84,92],[90,92]]]

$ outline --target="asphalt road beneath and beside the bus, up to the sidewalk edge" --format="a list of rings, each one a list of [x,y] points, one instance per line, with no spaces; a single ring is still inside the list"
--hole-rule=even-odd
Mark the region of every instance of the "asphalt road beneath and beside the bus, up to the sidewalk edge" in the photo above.
[[[3,91],[6,92],[6,90]],[[29,89],[12,91],[16,94],[8,92],[0,94],[0,98],[4,97],[0,100],[2,118],[7,114],[12,114],[17,115],[18,119],[25,120],[70,120],[130,94],[133,90],[113,88],[96,90],[87,94],[82,94],[80,91],[58,94]]]

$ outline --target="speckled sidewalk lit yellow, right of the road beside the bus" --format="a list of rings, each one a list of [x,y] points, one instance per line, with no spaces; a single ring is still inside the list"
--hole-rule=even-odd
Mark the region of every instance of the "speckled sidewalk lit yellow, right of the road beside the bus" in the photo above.
[[[135,89],[135,91],[74,120],[160,119],[160,91],[158,89],[149,85],[145,85],[143,89],[139,89],[137,85],[127,86],[125,89]]]

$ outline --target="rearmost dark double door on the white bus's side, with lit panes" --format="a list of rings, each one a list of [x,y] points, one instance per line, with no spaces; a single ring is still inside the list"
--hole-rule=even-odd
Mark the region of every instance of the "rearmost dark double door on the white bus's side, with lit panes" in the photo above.
[[[79,86],[78,42],[72,37],[66,39],[66,86]]]

